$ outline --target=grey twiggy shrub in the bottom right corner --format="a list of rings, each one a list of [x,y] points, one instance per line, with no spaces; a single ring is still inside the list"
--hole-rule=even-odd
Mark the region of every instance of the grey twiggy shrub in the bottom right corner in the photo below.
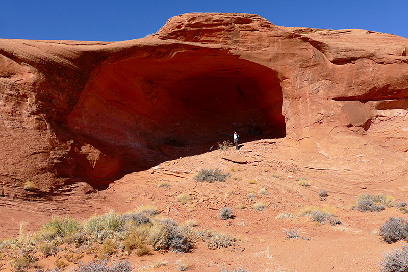
[[[393,249],[384,254],[380,263],[381,272],[407,272],[408,271],[408,245],[402,245],[401,249]]]

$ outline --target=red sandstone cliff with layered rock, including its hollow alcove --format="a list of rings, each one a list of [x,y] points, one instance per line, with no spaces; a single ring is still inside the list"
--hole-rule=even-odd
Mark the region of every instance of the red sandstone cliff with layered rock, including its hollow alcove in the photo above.
[[[131,41],[1,39],[2,193],[18,197],[26,181],[95,187],[233,130],[315,145],[339,133],[392,138],[402,154],[407,48],[390,34],[216,13],[176,16]]]

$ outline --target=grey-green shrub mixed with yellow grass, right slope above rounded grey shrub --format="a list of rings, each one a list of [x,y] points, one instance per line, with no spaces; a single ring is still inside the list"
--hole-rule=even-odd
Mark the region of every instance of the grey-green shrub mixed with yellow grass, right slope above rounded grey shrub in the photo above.
[[[394,206],[394,197],[386,194],[370,195],[368,193],[362,194],[353,204],[350,209],[359,210],[361,212],[379,212],[385,207]]]

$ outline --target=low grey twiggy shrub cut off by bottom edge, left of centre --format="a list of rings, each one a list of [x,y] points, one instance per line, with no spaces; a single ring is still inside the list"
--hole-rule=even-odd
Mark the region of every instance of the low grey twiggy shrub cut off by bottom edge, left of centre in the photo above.
[[[131,263],[128,260],[116,260],[109,266],[108,260],[90,261],[88,264],[80,263],[75,269],[76,272],[130,272]]]

